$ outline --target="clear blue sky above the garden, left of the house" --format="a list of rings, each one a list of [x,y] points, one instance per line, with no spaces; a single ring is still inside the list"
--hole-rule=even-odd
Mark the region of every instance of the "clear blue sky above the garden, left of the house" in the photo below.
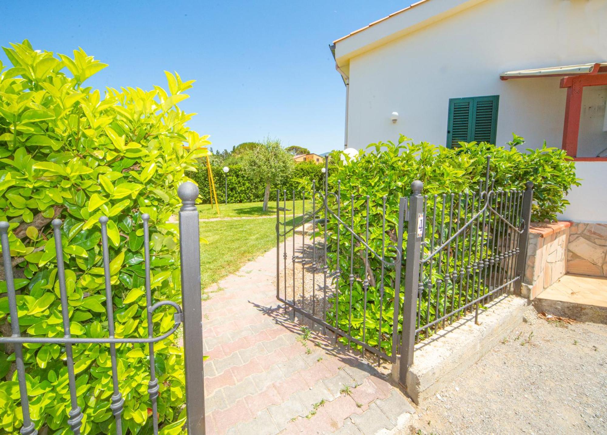
[[[195,79],[180,106],[213,149],[265,136],[321,153],[344,141],[345,87],[328,45],[407,4],[350,1],[6,1],[0,44],[109,64],[88,85],[166,87]],[[0,59],[7,64],[4,53]]]

